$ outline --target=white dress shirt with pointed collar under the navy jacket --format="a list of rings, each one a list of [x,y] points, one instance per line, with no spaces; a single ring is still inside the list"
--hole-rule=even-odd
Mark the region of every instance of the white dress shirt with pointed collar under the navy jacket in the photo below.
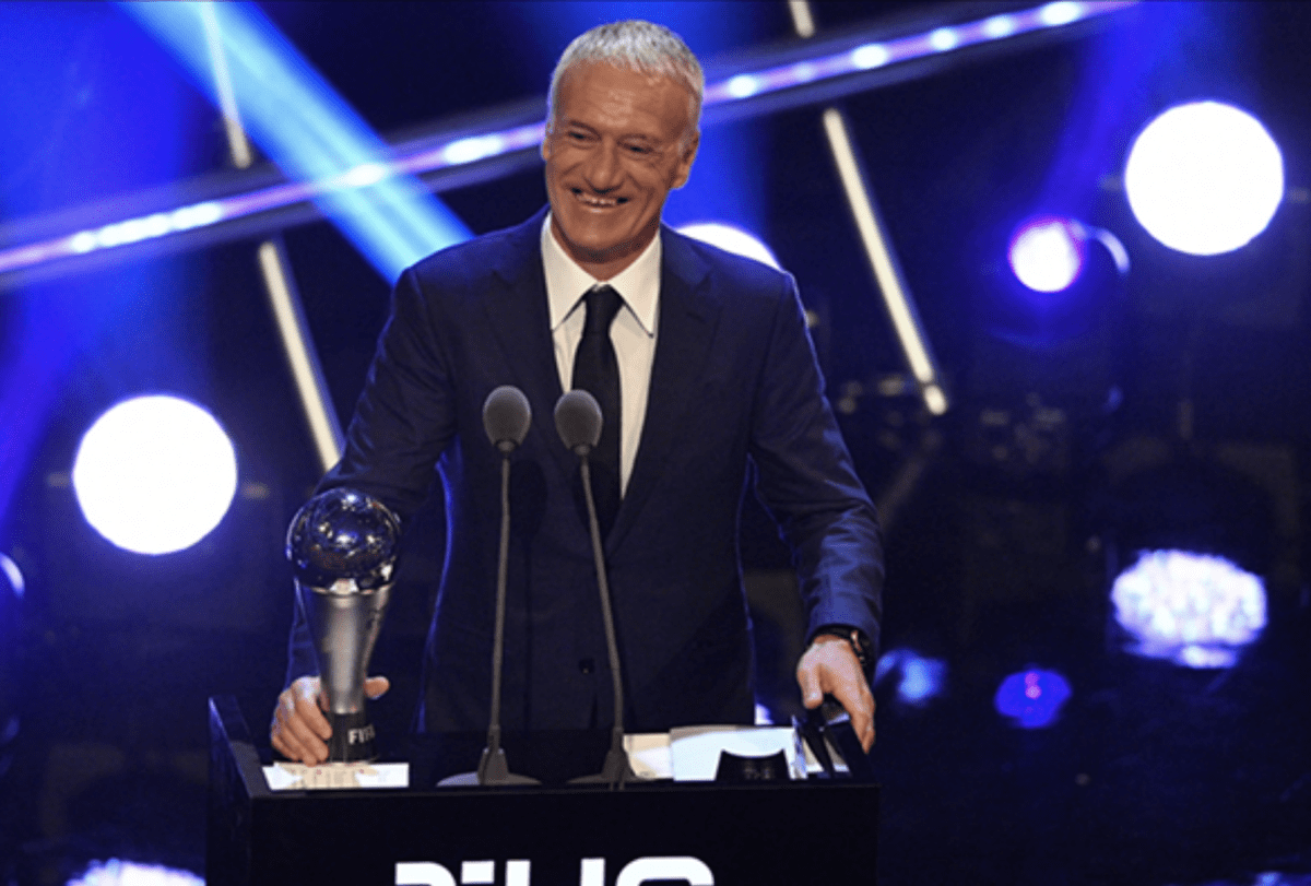
[[[619,360],[620,431],[619,488],[628,489],[628,477],[637,459],[646,418],[646,392],[656,359],[656,322],[659,316],[661,239],[657,236],[632,265],[614,279],[598,280],[569,257],[551,233],[551,214],[541,224],[541,263],[547,274],[547,303],[551,309],[551,338],[556,346],[556,370],[561,391],[573,388],[573,358],[582,338],[587,308],[583,295],[598,283],[608,283],[624,300],[610,326],[610,339]]]

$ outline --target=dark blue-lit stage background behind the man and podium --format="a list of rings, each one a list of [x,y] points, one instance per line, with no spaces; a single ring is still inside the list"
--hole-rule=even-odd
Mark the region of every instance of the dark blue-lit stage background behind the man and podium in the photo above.
[[[815,20],[821,37],[901,34],[1013,7],[821,3]],[[387,138],[540,98],[565,43],[600,21],[669,24],[708,63],[796,39],[773,1],[260,8]],[[880,879],[1306,882],[1311,13],[1152,3],[1017,46],[838,102],[945,374],[947,415],[897,393],[906,368],[822,105],[708,127],[666,212],[753,229],[796,274],[886,530],[882,646],[945,664],[926,704],[898,699],[895,670],[877,685]],[[94,215],[228,164],[214,109],[115,7],[0,5],[0,223]],[[1283,152],[1285,202],[1228,256],[1160,246],[1120,183],[1137,131],[1197,98],[1248,109]],[[540,166],[439,197],[476,233],[545,202]],[[1104,227],[1131,260],[1124,279],[1093,267],[1047,325],[1004,263],[1036,212]],[[389,280],[328,222],[282,237],[345,422]],[[0,882],[63,883],[115,856],[201,870],[206,697],[236,695],[258,733],[282,685],[282,535],[319,467],[256,244],[0,291],[0,552],[26,578],[0,606]],[[241,473],[218,530],[155,558],[97,536],[69,486],[90,421],[152,391],[207,405]],[[384,737],[404,733],[416,697],[440,537],[429,511],[406,541],[375,657],[395,687],[376,708]],[[1155,547],[1223,553],[1264,578],[1269,626],[1235,667],[1124,651],[1109,586]],[[750,502],[742,548],[762,700],[787,717],[800,623],[787,552]],[[1047,729],[1017,729],[992,706],[1028,667],[1072,688]]]

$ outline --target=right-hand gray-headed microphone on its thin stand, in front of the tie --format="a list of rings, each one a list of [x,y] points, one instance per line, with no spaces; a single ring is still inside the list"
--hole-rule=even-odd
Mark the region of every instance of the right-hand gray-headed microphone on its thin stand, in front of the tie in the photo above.
[[[591,494],[591,469],[587,456],[600,442],[603,419],[597,398],[586,391],[565,393],[556,402],[556,431],[560,439],[578,456],[582,473],[582,494],[587,501],[587,528],[591,533],[591,556],[597,566],[597,586],[600,590],[600,616],[606,626],[606,651],[610,655],[610,679],[615,691],[615,725],[611,731],[610,751],[600,772],[570,780],[570,784],[607,784],[614,790],[624,782],[637,781],[624,750],[624,680],[619,664],[619,638],[615,636],[615,617],[610,607],[610,579],[606,573],[606,552],[600,544],[600,522],[597,519],[597,501]]]

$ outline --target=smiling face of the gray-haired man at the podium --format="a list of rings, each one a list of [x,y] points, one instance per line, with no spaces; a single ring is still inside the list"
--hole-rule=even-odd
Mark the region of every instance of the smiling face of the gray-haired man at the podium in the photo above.
[[[696,156],[688,118],[688,93],[671,80],[589,63],[560,81],[541,144],[551,229],[597,279],[632,265],[659,229]]]

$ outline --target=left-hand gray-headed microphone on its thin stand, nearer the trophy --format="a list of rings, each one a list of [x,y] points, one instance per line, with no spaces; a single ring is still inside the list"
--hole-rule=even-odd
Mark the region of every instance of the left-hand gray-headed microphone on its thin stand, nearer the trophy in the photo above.
[[[503,384],[482,402],[482,429],[488,440],[501,451],[501,549],[496,573],[496,628],[492,636],[492,716],[488,743],[482,748],[476,772],[442,779],[442,786],[471,785],[536,785],[536,779],[514,775],[501,747],[501,671],[505,664],[505,595],[510,568],[510,453],[528,434],[532,409],[528,398],[513,384]]]

